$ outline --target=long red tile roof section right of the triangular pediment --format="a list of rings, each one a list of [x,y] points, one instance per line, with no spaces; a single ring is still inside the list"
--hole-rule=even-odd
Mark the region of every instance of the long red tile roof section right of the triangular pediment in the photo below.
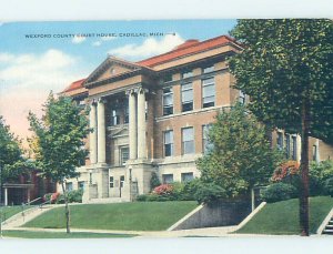
[[[205,51],[211,48],[215,48],[219,45],[226,44],[229,42],[233,42],[235,44],[239,44],[234,39],[228,37],[228,35],[221,35],[216,38],[212,38],[202,42],[199,42],[198,40],[189,40],[185,41],[183,44],[180,44],[174,50],[171,50],[167,53],[155,55],[142,61],[137,62],[138,64],[141,64],[143,67],[154,67],[163,62],[171,61],[175,58],[184,57],[186,54],[198,53],[201,51]]]

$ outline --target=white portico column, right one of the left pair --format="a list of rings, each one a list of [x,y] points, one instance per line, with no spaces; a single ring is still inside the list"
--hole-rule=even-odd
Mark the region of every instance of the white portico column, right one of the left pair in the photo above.
[[[98,102],[98,163],[105,163],[105,105],[102,99]]]

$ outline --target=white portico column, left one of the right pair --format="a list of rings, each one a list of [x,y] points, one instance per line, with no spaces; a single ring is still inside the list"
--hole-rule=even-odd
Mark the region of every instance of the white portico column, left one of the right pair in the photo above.
[[[137,100],[133,90],[129,91],[129,139],[130,160],[137,159]]]

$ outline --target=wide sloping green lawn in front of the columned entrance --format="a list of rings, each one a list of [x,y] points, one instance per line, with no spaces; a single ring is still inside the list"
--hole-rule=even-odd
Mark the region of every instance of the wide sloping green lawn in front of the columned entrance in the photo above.
[[[163,231],[198,206],[194,201],[82,204],[70,206],[77,228]],[[63,228],[64,207],[53,209],[24,227]]]

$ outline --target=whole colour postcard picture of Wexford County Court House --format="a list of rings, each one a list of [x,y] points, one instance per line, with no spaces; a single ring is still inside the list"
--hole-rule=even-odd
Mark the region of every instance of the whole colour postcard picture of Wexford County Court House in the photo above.
[[[333,22],[0,24],[1,237],[333,235]]]

